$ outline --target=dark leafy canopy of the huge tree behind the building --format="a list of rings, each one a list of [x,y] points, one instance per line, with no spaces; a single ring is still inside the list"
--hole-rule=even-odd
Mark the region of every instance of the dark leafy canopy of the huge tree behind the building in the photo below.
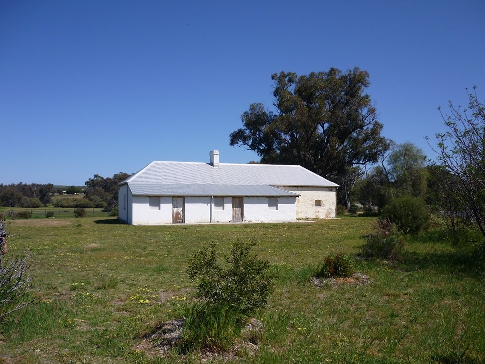
[[[262,163],[298,164],[330,179],[353,165],[377,162],[389,147],[365,93],[366,71],[330,68],[271,78],[276,111],[251,104],[241,115],[243,127],[230,134],[231,146],[255,151]]]

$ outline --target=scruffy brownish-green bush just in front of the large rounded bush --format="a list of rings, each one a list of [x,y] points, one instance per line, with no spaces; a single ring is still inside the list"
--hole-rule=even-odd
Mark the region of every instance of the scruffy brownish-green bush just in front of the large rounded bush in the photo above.
[[[375,229],[361,247],[361,255],[365,258],[399,260],[404,239],[396,226],[389,220],[379,220]]]

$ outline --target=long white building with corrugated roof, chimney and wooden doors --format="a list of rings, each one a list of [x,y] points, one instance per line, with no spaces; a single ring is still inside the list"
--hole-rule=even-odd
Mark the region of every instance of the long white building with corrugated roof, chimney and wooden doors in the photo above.
[[[338,185],[301,167],[155,161],[119,184],[119,218],[133,225],[283,222],[335,217]]]

